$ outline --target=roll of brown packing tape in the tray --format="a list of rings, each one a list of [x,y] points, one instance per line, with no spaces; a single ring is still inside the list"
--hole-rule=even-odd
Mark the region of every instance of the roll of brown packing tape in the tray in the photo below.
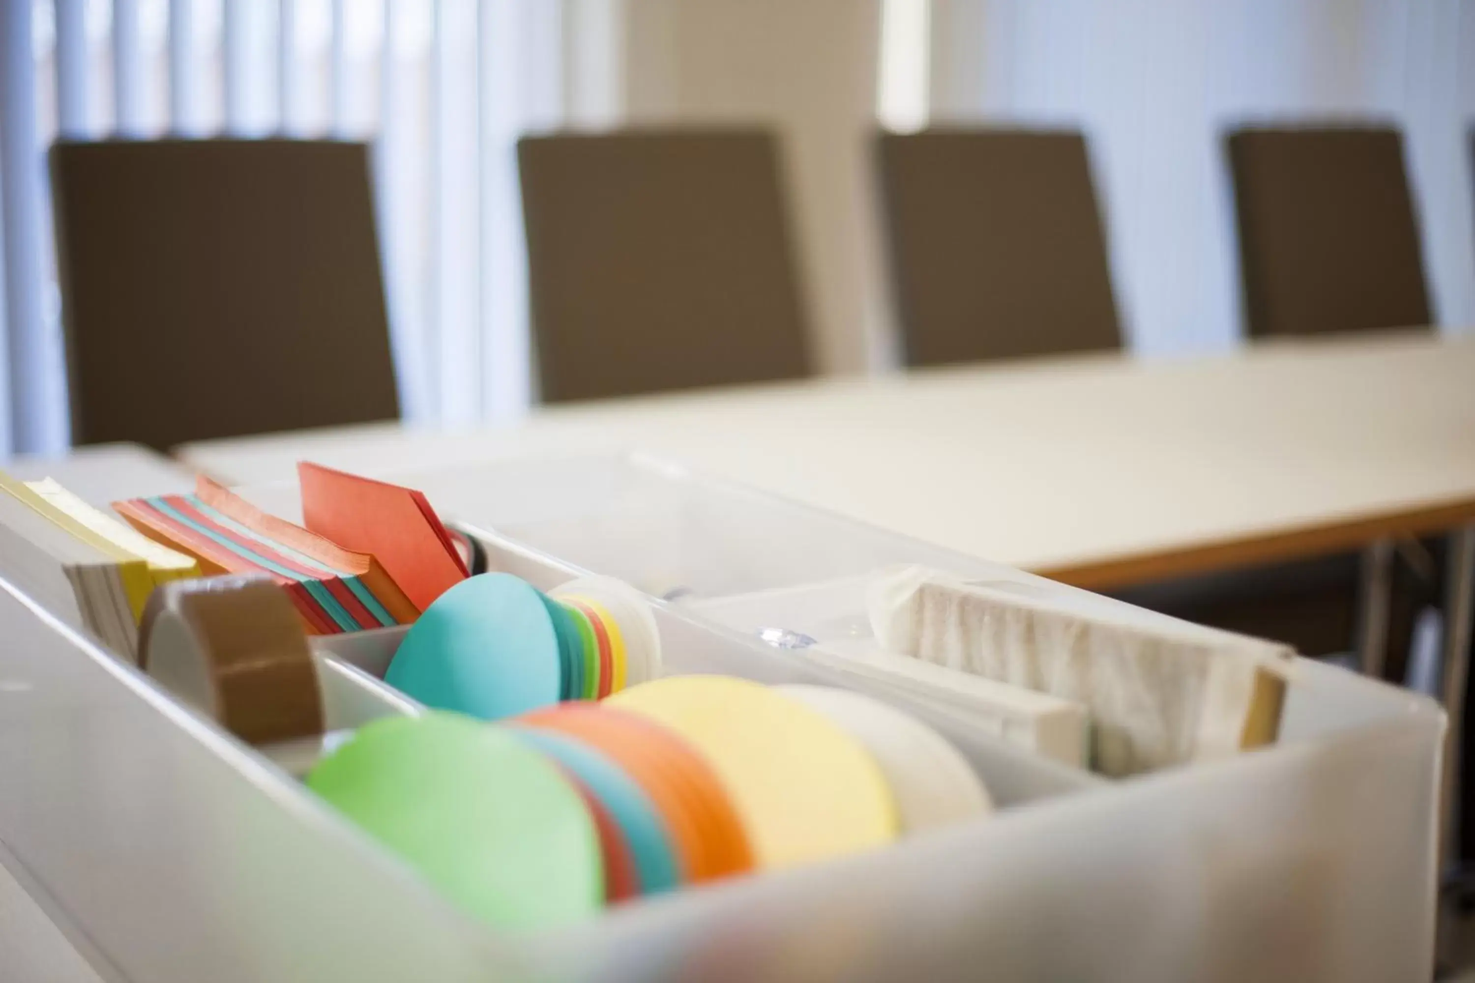
[[[209,576],[155,588],[139,629],[139,666],[248,743],[323,731],[317,666],[302,620],[267,576]]]

